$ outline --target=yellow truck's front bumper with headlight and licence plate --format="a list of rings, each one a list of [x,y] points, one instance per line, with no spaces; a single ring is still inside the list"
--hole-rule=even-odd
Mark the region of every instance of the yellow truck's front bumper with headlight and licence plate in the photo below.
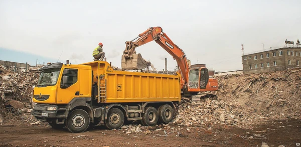
[[[57,107],[57,110],[47,110],[48,107]],[[49,121],[57,118],[67,118],[70,105],[36,104],[31,111],[38,120]]]

